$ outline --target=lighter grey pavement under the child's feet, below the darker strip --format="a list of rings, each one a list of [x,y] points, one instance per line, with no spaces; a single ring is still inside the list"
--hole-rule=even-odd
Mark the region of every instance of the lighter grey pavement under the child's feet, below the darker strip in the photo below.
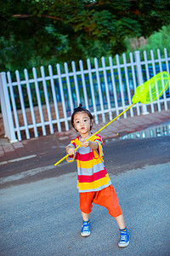
[[[131,235],[117,247],[119,231],[104,207],[94,205],[91,236],[82,224],[77,173],[1,189],[2,256],[169,255],[169,163],[110,175]]]

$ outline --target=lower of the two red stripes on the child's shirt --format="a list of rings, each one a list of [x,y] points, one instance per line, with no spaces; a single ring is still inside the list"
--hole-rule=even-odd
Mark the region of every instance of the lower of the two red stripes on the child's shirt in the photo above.
[[[93,175],[78,175],[79,183],[93,183],[95,180],[99,180],[102,177],[105,177],[107,174],[106,169],[95,172]]]

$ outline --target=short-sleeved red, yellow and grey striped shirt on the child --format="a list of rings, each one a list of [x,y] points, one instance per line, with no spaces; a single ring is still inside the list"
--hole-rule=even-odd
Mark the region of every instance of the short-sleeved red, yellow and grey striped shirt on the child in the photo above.
[[[111,179],[105,169],[103,160],[102,138],[95,135],[91,141],[98,143],[97,150],[90,147],[81,147],[75,152],[74,158],[69,156],[66,159],[68,162],[74,159],[77,160],[77,188],[79,192],[99,191],[111,185]],[[68,146],[77,148],[81,143],[81,137],[77,137],[71,140]]]

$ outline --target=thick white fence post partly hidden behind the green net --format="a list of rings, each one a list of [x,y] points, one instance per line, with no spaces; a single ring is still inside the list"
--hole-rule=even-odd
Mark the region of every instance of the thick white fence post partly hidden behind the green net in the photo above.
[[[138,84],[143,84],[144,79],[143,79],[143,74],[142,74],[142,67],[140,64],[140,52],[139,50],[134,51],[134,59],[136,62],[136,73],[137,73],[137,78],[138,78]],[[142,105],[142,114],[148,114],[149,112],[147,111],[146,105]]]

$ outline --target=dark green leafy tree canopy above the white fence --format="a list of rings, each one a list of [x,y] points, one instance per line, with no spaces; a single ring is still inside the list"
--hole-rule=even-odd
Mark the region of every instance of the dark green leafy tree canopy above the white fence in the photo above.
[[[169,9],[167,0],[1,0],[1,66],[121,54],[126,38],[167,26]]]

